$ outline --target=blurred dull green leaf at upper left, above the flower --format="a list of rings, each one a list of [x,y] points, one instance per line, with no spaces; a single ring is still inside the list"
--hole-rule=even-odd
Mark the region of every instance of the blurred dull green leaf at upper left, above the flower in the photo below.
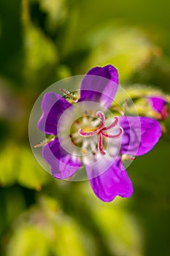
[[[47,79],[50,70],[57,65],[58,52],[53,42],[39,28],[31,24],[25,26],[24,35],[26,56],[23,75],[30,88],[41,85]]]

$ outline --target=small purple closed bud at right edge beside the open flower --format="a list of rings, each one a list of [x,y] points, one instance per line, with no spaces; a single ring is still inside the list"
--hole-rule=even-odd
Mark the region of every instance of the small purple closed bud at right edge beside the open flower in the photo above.
[[[147,97],[151,108],[158,113],[158,119],[166,119],[169,116],[168,107],[166,105],[166,99],[161,96]]]

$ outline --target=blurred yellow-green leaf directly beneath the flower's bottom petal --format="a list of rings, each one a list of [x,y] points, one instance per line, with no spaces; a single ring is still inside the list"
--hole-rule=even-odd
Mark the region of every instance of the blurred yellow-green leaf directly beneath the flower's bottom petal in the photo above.
[[[113,255],[142,256],[140,226],[135,217],[125,210],[125,205],[121,205],[121,199],[116,198],[114,203],[115,207],[112,203],[98,203],[93,207],[93,221]]]

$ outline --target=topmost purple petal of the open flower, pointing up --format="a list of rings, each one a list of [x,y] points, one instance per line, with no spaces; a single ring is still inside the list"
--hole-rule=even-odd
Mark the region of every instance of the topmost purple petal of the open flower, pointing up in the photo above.
[[[82,79],[79,102],[90,100],[109,108],[115,98],[117,86],[118,73],[115,67],[93,67]]]

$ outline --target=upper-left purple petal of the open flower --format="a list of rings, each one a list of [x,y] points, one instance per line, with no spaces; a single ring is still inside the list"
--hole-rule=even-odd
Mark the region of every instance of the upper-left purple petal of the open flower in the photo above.
[[[57,123],[61,114],[71,106],[55,92],[48,92],[42,99],[42,116],[38,122],[40,131],[48,135],[57,135]]]

